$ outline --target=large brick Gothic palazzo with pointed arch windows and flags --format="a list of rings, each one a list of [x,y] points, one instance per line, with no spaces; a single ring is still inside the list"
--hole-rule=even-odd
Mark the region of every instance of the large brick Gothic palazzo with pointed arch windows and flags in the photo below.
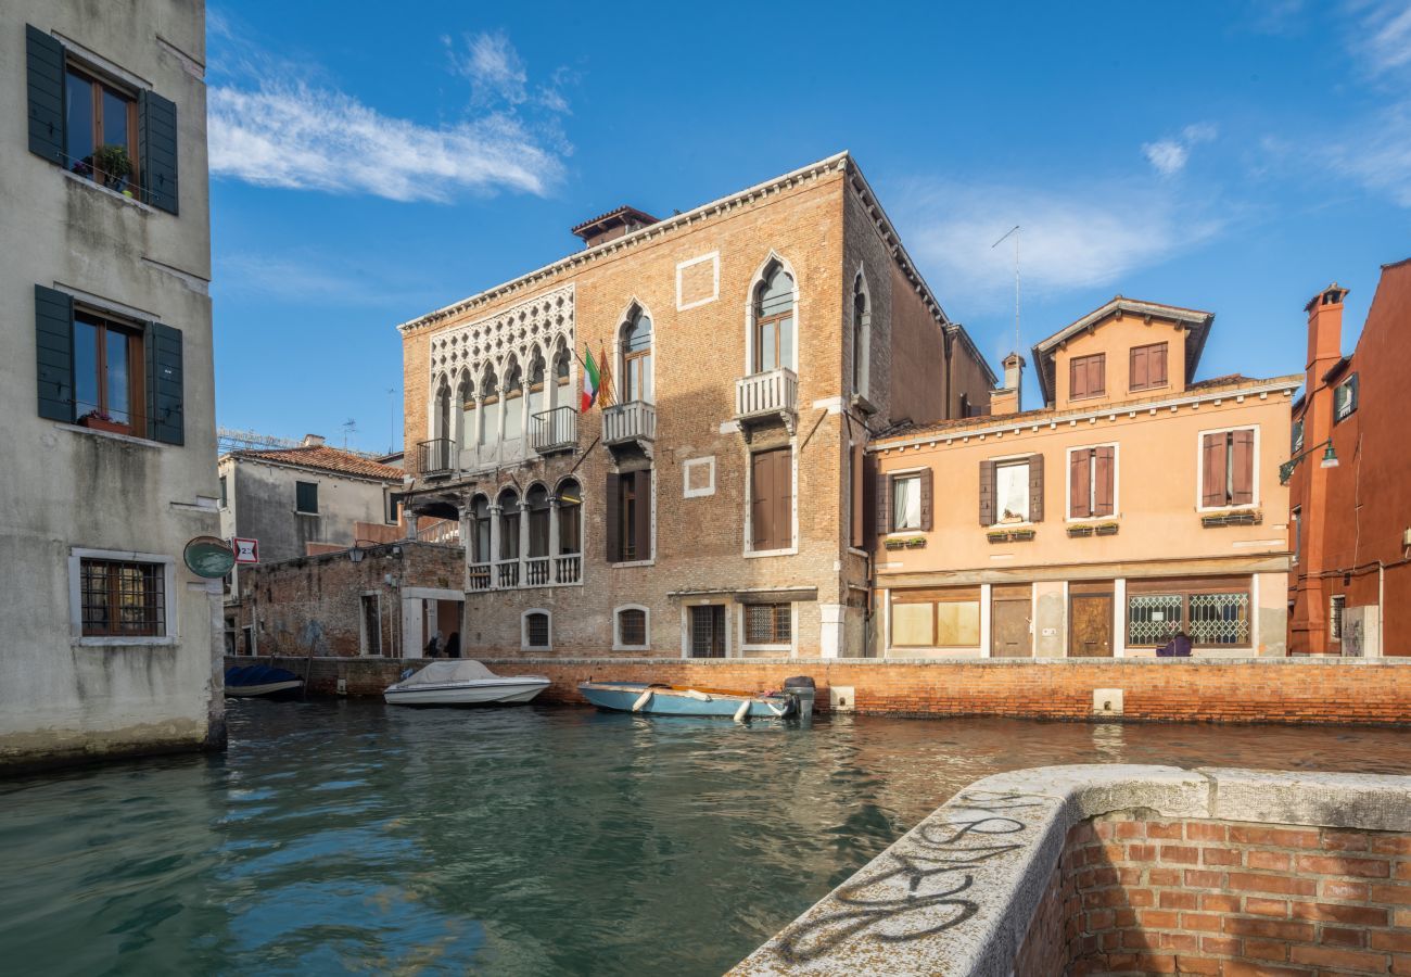
[[[406,505],[461,521],[466,654],[865,654],[864,449],[995,376],[855,161],[574,230],[399,328]]]

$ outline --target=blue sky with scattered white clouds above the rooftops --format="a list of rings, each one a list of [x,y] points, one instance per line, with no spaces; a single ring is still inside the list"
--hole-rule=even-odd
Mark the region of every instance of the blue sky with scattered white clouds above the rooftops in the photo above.
[[[844,148],[996,371],[1015,224],[1024,349],[1123,294],[1215,312],[1206,377],[1411,257],[1407,0],[358,6],[209,4],[224,426],[399,446],[398,322]]]

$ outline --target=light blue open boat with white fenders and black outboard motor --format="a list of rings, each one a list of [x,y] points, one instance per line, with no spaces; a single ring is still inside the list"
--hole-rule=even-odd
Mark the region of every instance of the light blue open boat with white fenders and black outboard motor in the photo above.
[[[807,683],[807,685],[804,685]],[[738,692],[706,686],[666,685],[662,682],[587,682],[579,692],[598,709],[648,716],[718,716],[746,719],[783,719],[813,714],[813,679],[789,679],[780,692]]]

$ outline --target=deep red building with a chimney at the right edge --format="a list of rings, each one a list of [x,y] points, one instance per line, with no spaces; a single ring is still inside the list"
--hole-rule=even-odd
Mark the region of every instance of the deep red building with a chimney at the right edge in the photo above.
[[[1290,654],[1411,655],[1411,258],[1381,267],[1357,347],[1308,302],[1290,446]]]

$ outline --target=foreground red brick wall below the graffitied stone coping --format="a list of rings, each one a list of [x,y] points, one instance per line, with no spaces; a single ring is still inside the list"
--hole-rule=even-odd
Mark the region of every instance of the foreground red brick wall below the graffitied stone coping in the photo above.
[[[1411,833],[1106,815],[1017,974],[1411,974]]]

